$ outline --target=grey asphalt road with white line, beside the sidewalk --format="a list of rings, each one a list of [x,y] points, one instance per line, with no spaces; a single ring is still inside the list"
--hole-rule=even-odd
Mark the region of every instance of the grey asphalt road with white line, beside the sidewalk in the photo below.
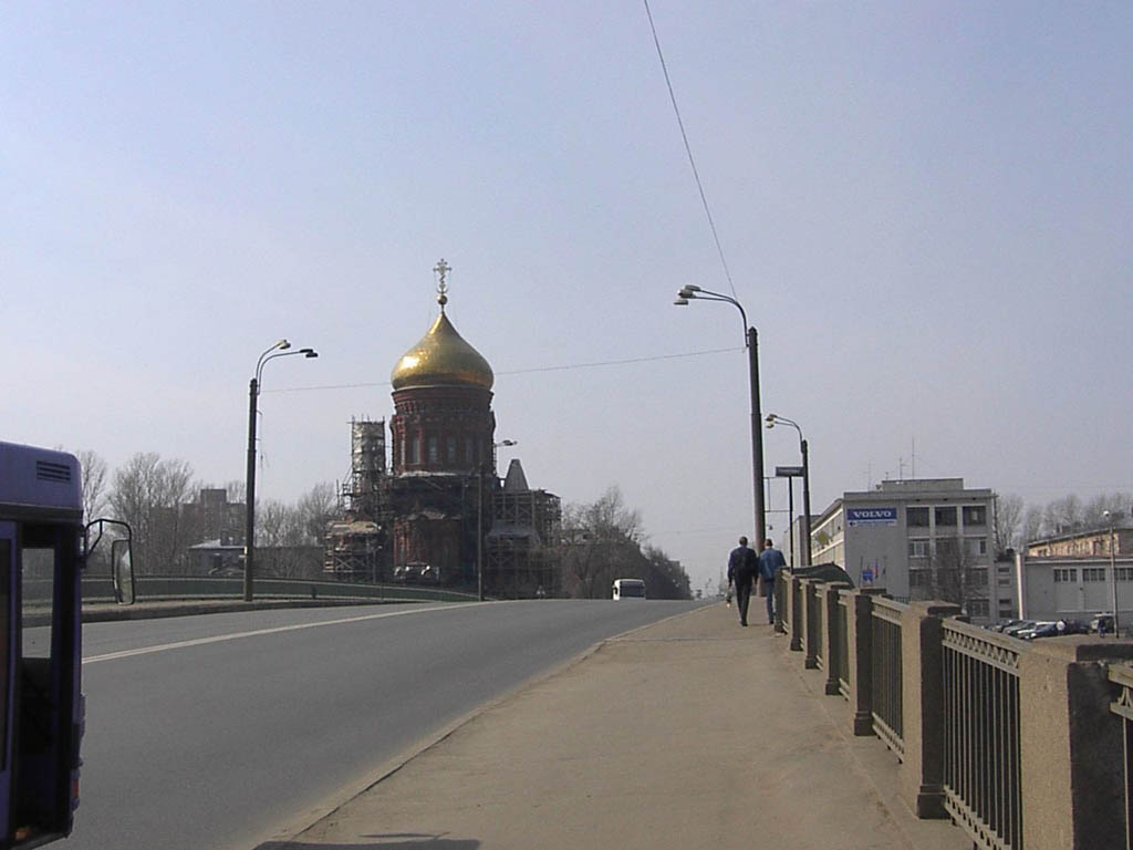
[[[69,850],[245,850],[606,637],[695,603],[262,611],[84,627]]]

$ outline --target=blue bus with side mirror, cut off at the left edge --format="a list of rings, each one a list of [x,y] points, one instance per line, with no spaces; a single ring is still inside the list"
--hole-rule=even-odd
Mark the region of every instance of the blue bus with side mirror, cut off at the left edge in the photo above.
[[[84,705],[79,575],[90,536],[78,461],[0,442],[0,850],[70,834]],[[121,526],[122,524],[114,524]],[[130,541],[111,550],[133,601]]]

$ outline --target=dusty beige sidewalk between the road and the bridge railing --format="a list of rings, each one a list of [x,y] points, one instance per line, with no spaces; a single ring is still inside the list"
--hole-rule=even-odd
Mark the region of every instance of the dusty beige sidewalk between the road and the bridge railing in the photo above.
[[[605,641],[257,850],[968,850],[785,644],[724,605]]]

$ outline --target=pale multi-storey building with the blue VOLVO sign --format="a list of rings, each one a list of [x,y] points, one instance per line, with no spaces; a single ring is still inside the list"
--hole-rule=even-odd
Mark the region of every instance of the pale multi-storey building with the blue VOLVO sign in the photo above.
[[[994,510],[991,491],[966,490],[963,478],[883,482],[844,493],[811,524],[813,562],[898,600],[955,602],[993,621],[1014,612],[1011,569],[1004,586],[994,569]]]

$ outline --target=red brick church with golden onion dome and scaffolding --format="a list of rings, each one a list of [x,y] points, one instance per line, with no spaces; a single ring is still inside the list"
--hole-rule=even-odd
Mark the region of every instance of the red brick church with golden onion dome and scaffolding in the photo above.
[[[559,498],[530,490],[518,460],[505,481],[497,475],[495,376],[445,313],[450,271],[443,260],[434,269],[440,313],[393,367],[389,464],[384,423],[355,423],[352,476],[343,518],[331,525],[326,571],[344,580],[483,583],[499,597],[554,595]]]

